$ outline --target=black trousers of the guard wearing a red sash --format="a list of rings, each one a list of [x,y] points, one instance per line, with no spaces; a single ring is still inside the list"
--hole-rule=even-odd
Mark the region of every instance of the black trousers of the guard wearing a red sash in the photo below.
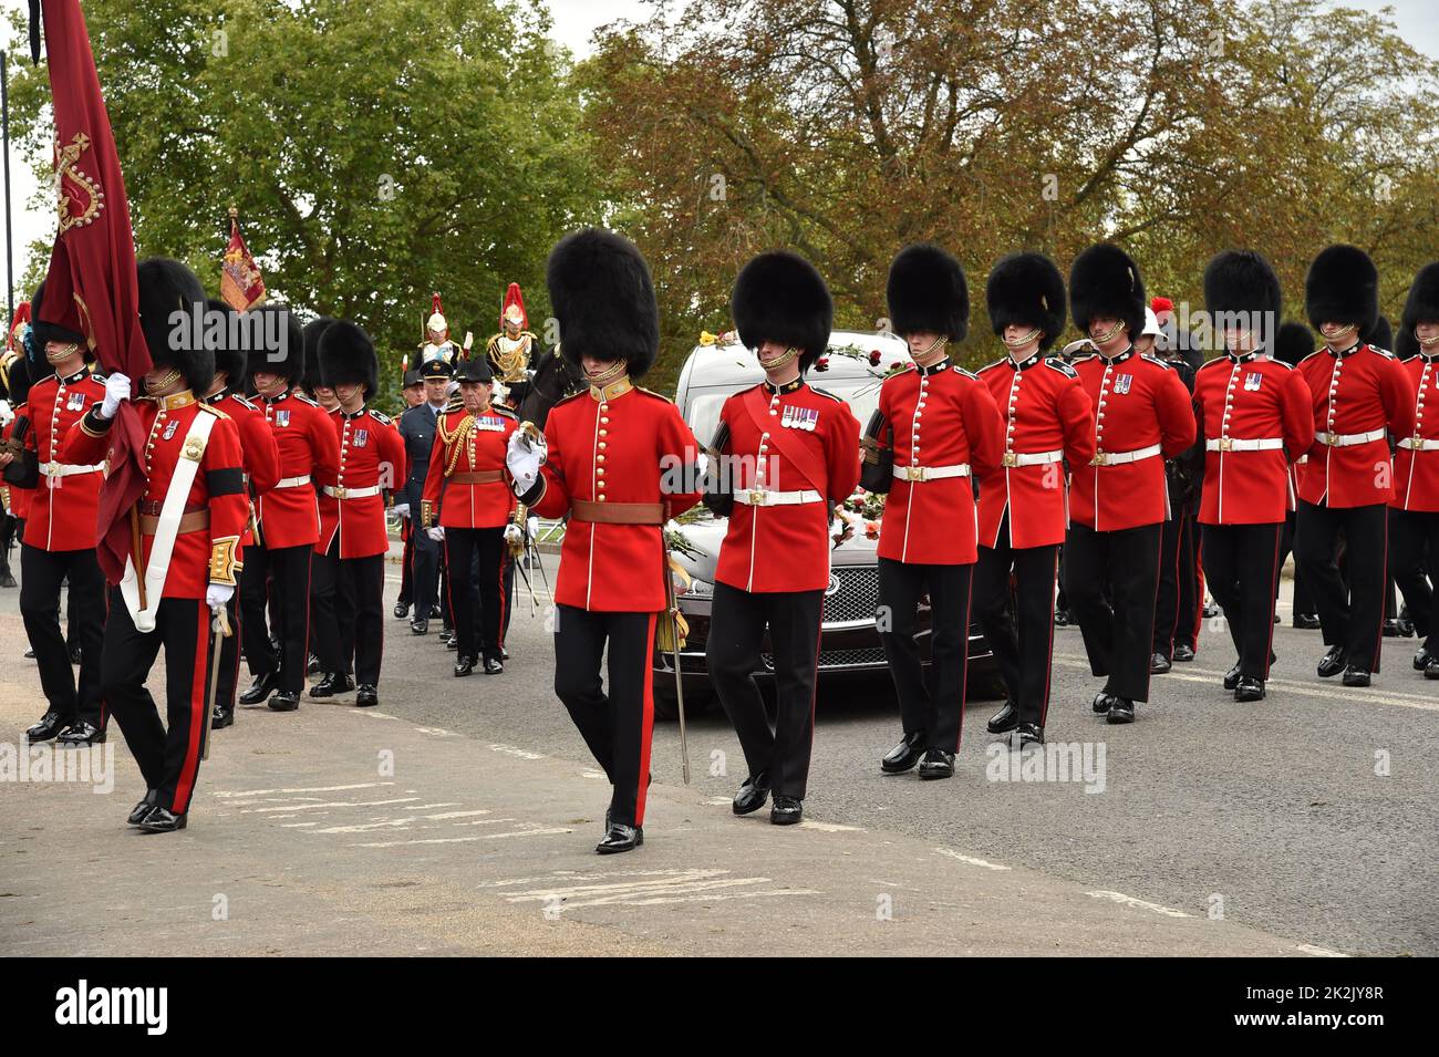
[[[814,683],[825,591],[741,591],[715,584],[705,664],[734,723],[750,777],[768,777],[776,797],[804,798],[814,742]],[[764,709],[754,673],[770,631],[776,720]]]

